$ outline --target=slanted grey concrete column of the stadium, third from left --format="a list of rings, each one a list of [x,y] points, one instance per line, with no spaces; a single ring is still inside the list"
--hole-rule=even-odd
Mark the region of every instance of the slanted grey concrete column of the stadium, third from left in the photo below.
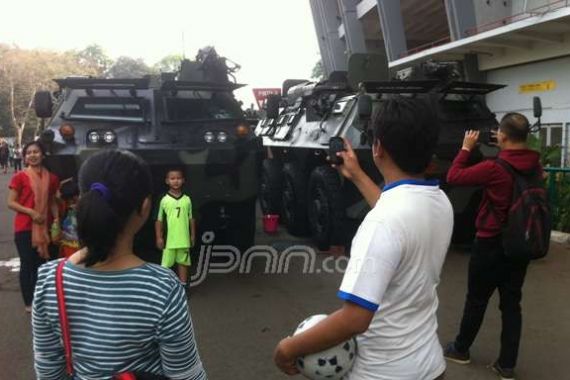
[[[378,2],[380,26],[386,45],[386,55],[388,60],[395,61],[408,51],[400,0],[376,1]]]

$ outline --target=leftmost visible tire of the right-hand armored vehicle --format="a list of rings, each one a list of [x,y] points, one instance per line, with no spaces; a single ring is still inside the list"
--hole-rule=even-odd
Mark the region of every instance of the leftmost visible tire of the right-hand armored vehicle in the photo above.
[[[281,214],[283,167],[276,160],[265,159],[261,165],[259,206],[264,215]]]

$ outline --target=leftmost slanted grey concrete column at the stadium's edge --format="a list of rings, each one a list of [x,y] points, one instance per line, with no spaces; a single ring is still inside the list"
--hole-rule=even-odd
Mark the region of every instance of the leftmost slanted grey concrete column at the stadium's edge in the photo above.
[[[326,75],[347,70],[346,45],[338,36],[340,25],[337,4],[330,0],[310,0]]]

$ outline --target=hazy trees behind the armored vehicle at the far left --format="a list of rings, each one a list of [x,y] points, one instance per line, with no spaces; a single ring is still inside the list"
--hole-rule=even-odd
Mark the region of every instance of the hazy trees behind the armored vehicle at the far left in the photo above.
[[[144,60],[122,56],[109,58],[97,44],[80,51],[54,52],[22,49],[0,44],[0,134],[35,134],[40,125],[33,110],[37,91],[55,91],[56,78],[96,76],[135,78],[160,72],[178,71],[182,57],[167,55],[152,67]],[[33,131],[33,133],[32,133]]]

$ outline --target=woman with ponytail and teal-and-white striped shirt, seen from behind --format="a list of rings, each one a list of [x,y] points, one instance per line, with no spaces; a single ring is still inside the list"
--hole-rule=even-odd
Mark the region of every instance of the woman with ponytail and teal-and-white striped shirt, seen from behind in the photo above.
[[[206,379],[184,289],[168,269],[133,252],[151,210],[148,166],[125,151],[92,156],[79,173],[78,234],[85,248],[63,268],[75,379],[145,372]],[[65,377],[55,272],[40,268],[33,303],[38,379]]]

